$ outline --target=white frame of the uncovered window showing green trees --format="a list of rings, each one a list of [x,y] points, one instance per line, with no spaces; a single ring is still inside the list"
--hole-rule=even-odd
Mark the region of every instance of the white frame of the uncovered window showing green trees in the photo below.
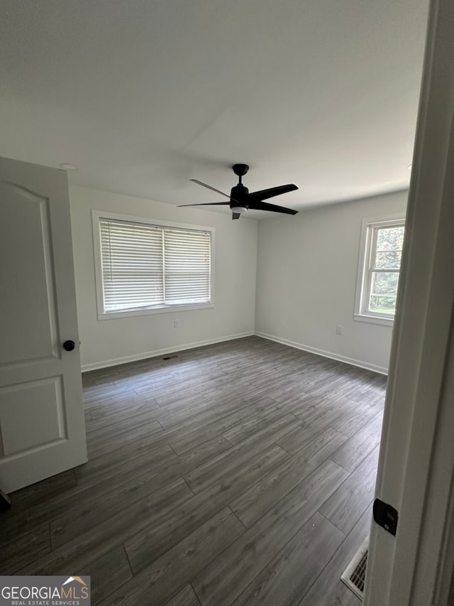
[[[374,271],[371,267],[371,261],[374,243],[377,239],[377,229],[380,229],[380,227],[405,227],[405,216],[402,213],[399,213],[397,215],[386,215],[384,217],[369,217],[362,220],[353,320],[392,327],[394,325],[394,315],[390,316],[388,314],[373,313],[367,310],[372,271]],[[399,268],[399,271],[390,271],[395,271],[400,274],[401,270]]]

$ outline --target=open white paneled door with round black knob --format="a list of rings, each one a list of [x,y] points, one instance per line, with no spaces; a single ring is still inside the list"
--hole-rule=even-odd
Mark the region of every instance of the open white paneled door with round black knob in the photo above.
[[[0,158],[0,489],[85,461],[67,174]]]

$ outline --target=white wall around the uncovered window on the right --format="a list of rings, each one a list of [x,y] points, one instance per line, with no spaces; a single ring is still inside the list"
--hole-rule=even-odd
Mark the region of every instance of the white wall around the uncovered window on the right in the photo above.
[[[407,195],[260,221],[255,332],[386,372],[392,328],[353,320],[360,229],[363,217],[404,214]]]

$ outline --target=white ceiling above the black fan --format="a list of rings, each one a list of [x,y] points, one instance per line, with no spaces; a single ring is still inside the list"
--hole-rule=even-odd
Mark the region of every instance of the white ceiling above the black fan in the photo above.
[[[428,0],[0,0],[0,155],[175,204],[409,183]],[[209,207],[208,207],[209,208]],[[265,215],[254,215],[267,216]],[[269,215],[268,215],[269,216]]]

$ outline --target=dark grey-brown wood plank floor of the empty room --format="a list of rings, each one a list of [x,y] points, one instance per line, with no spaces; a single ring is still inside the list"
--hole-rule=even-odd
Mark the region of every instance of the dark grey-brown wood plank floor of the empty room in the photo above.
[[[10,495],[0,573],[92,575],[103,606],[358,606],[385,386],[259,337],[84,374],[89,462]]]

